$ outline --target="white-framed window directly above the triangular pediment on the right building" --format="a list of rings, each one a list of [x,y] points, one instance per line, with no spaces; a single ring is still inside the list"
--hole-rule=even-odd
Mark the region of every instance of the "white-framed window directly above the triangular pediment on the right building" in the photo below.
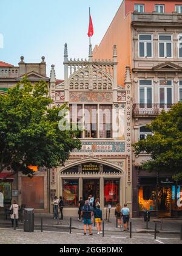
[[[159,57],[172,58],[172,35],[159,35]]]

